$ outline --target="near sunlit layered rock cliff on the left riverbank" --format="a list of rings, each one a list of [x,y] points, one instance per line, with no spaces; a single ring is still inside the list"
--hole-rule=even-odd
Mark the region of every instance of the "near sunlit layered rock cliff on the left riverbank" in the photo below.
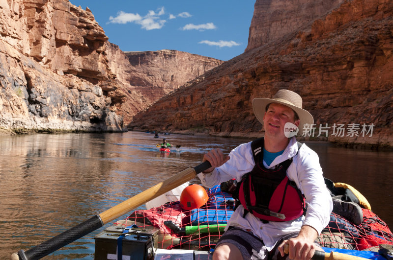
[[[112,80],[108,37],[89,10],[66,0],[9,0],[0,1],[0,14],[1,128],[124,130],[98,84]]]

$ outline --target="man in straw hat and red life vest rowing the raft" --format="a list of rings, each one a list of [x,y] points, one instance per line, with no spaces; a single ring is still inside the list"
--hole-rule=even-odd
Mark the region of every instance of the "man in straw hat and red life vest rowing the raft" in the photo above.
[[[205,187],[236,179],[240,205],[216,245],[213,259],[310,259],[329,223],[333,204],[317,154],[294,135],[313,123],[300,95],[279,90],[254,98],[253,111],[264,138],[243,143],[228,156],[213,149],[212,165],[198,174]],[[307,208],[307,210],[306,210]],[[289,255],[284,255],[284,244]]]

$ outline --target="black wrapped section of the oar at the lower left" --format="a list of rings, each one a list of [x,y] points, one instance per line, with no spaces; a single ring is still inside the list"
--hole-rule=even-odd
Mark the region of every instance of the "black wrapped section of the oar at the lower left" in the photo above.
[[[68,245],[71,242],[85,236],[96,229],[104,226],[99,215],[95,215],[77,226],[64,231],[63,233],[52,237],[51,239],[29,249],[28,251],[20,250],[18,252],[20,260],[37,260],[41,259],[57,249]]]

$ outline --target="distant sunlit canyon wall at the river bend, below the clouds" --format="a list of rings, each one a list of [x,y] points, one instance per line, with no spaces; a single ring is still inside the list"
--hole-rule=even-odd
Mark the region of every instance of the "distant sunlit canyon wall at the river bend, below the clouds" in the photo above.
[[[123,52],[115,45],[108,49],[112,57],[109,67],[122,83],[125,95],[123,103],[116,105],[125,123],[158,99],[223,63],[178,50]]]

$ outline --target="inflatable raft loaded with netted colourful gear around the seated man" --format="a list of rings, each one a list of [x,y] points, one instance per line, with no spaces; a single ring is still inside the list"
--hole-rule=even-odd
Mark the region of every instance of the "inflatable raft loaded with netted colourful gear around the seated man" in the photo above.
[[[137,210],[115,222],[95,237],[95,259],[103,255],[105,259],[171,259],[172,254],[184,254],[181,259],[186,259],[187,252],[193,252],[190,259],[212,259],[208,252],[214,250],[224,233],[234,210],[234,200],[220,185],[208,189],[207,194],[207,203],[197,209],[183,210],[180,201],[171,201],[148,210]],[[391,230],[371,209],[363,207],[362,211],[363,221],[358,225],[331,213],[329,225],[318,237],[321,246],[325,252],[365,259],[393,259]],[[112,247],[103,247],[110,243],[108,237],[115,243],[112,242]]]

